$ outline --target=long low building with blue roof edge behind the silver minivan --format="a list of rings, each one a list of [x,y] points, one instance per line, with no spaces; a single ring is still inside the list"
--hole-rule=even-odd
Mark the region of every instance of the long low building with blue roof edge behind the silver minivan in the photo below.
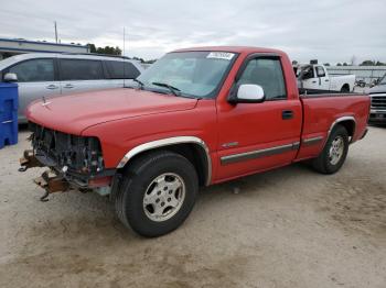
[[[61,44],[23,38],[0,38],[0,59],[23,53],[89,53],[87,45]]]

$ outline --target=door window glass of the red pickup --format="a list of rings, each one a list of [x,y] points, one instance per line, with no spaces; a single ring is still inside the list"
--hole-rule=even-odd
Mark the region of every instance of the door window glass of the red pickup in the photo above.
[[[257,84],[262,87],[266,100],[287,99],[286,84],[278,58],[249,60],[238,84]]]

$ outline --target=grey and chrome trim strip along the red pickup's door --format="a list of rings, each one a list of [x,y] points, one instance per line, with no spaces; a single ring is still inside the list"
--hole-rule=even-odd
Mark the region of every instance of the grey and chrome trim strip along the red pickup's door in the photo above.
[[[292,149],[298,149],[299,145],[300,145],[299,142],[294,142],[291,144],[286,144],[286,145],[274,146],[274,147],[264,148],[264,149],[255,149],[255,151],[249,151],[249,152],[245,152],[245,153],[223,156],[223,157],[221,157],[221,164],[227,165],[227,164],[233,164],[233,163],[237,163],[237,162],[277,155],[277,154],[281,154],[285,152],[292,151]]]

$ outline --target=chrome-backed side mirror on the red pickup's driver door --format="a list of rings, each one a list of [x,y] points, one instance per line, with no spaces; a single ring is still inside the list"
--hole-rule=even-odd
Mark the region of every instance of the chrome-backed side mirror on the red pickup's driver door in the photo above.
[[[230,103],[260,103],[265,100],[264,89],[255,84],[242,84],[237,93],[228,98]]]

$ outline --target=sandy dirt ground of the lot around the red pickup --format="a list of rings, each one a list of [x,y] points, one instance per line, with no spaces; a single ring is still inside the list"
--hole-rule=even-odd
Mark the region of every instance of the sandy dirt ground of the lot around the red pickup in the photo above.
[[[299,164],[204,189],[152,240],[98,195],[40,202],[39,170],[17,171],[26,135],[0,151],[0,287],[386,287],[385,128],[336,175]]]

